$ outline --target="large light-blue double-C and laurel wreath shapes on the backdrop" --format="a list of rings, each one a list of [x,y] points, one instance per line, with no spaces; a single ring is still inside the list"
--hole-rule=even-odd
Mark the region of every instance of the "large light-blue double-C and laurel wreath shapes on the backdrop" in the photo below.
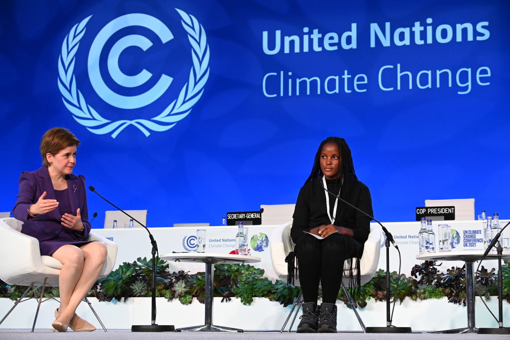
[[[179,96],[170,102],[166,109],[150,119],[117,120],[111,121],[104,118],[87,101],[78,89],[74,75],[75,56],[78,51],[80,40],[85,35],[86,25],[89,16],[75,24],[62,43],[62,52],[59,56],[58,87],[62,94],[62,100],[66,108],[71,112],[72,117],[87,129],[98,135],[112,133],[117,135],[127,126],[134,125],[141,130],[145,136],[150,132],[162,132],[173,127],[181,119],[185,118],[193,105],[200,99],[209,77],[209,45],[207,44],[206,32],[197,19],[179,9],[175,9],[182,18],[182,26],[188,34],[191,45],[191,58],[193,66],[189,74],[189,80],[182,87]],[[134,96],[126,96],[111,90],[105,83],[99,71],[99,57],[107,40],[119,30],[130,26],[142,26],[154,32],[164,44],[173,39],[173,35],[166,25],[159,19],[142,13],[122,15],[105,25],[94,38],[90,47],[87,69],[90,83],[97,95],[112,106],[133,110],[147,106],[160,98],[169,88],[172,77],[162,74],[158,82],[148,91]],[[124,74],[119,67],[119,56],[128,47],[136,46],[147,50],[152,42],[146,37],[138,34],[131,34],[120,38],[108,51],[108,72],[111,79],[118,85],[125,88],[134,88],[145,84],[152,74],[143,69],[136,75]]]

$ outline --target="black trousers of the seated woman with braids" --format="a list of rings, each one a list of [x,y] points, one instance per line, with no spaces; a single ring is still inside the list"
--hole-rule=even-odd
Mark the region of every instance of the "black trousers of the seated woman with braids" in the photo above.
[[[323,240],[304,234],[294,251],[304,302],[317,303],[320,282],[322,302],[336,303],[344,261],[351,257],[361,258],[363,246],[353,238],[340,233],[331,234]]]

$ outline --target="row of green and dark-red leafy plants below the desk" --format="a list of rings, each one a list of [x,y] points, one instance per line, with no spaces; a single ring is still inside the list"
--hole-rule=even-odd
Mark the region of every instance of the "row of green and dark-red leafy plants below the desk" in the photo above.
[[[200,303],[205,300],[205,274],[198,272],[189,274],[179,271],[171,272],[166,261],[156,258],[156,296],[164,297],[168,301],[177,299],[182,304],[190,304],[193,298]],[[414,301],[426,299],[448,298],[448,302],[466,305],[466,277],[464,267],[452,267],[446,272],[439,272],[436,261],[425,261],[415,265],[411,276],[396,272],[390,273],[390,292],[396,301],[410,298]],[[96,297],[99,301],[120,301],[132,297],[150,296],[151,286],[151,260],[137,258],[133,263],[122,263],[107,277],[97,280],[89,292],[89,297]],[[277,301],[284,307],[294,303],[300,287],[294,287],[282,280],[272,282],[264,277],[264,270],[250,265],[223,265],[214,266],[214,297],[221,297],[221,302],[239,298],[244,305],[250,305],[253,298],[267,298]],[[505,260],[502,266],[503,298],[510,303],[510,260]],[[475,275],[478,291],[486,300],[497,295],[497,275],[495,270],[487,270],[483,266]],[[16,300],[26,287],[8,285],[0,280],[0,297]],[[31,294],[40,295],[40,290]],[[57,290],[49,290],[44,294],[47,297],[58,295]],[[342,291],[339,299],[346,301]],[[379,269],[372,280],[363,284],[356,303],[361,308],[371,299],[386,301],[386,272]]]

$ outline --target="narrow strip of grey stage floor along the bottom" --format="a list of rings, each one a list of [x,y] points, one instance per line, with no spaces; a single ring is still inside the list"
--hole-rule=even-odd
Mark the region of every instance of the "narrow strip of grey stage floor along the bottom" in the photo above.
[[[48,329],[37,329],[34,333],[30,329],[0,329],[0,339],[52,339],[59,338],[60,333],[54,333]],[[316,338],[316,339],[374,339],[374,340],[393,340],[393,339],[492,339],[492,340],[507,340],[508,335],[490,335],[490,334],[435,334],[435,333],[411,333],[411,334],[366,334],[362,332],[340,332],[337,334],[297,334],[297,333],[279,333],[279,332],[250,332],[244,333],[230,333],[230,332],[163,332],[163,333],[132,333],[126,330],[109,330],[104,332],[96,330],[94,332],[66,332],[66,339],[253,339],[253,340],[269,340],[269,339],[296,339],[296,338]],[[458,337],[457,337],[458,336]]]

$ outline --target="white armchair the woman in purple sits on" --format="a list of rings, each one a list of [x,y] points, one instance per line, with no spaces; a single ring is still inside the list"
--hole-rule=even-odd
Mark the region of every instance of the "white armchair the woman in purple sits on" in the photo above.
[[[18,303],[26,301],[24,299],[30,292],[35,292],[36,287],[41,286],[44,292],[47,286],[57,288],[59,284],[59,275],[62,264],[59,260],[52,256],[41,256],[39,251],[39,241],[31,236],[21,233],[23,222],[14,218],[0,219],[0,258],[3,259],[0,266],[0,279],[8,284],[28,286],[23,295],[14,303],[14,306],[7,312],[0,324],[9,316],[11,311]],[[105,277],[113,270],[117,258],[117,245],[101,236],[90,232],[90,241],[103,242],[108,250],[107,258],[103,270],[99,277]],[[8,260],[6,260],[8,259]],[[24,300],[23,300],[24,299]],[[43,300],[41,295],[38,298],[37,311],[34,318],[32,331],[34,331],[37,321],[39,308]],[[84,299],[88,303],[97,320],[106,331],[103,322],[97,316],[95,310],[87,298]]]

